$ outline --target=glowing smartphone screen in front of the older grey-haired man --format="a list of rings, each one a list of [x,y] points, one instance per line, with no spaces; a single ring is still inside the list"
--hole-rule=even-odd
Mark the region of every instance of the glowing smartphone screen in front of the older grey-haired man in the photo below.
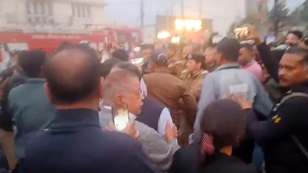
[[[116,104],[112,106],[112,119],[115,128],[122,131],[129,123],[128,108],[126,104]]]

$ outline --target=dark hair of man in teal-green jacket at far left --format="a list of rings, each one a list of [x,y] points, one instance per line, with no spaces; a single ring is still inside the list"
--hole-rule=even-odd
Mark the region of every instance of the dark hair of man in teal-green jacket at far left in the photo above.
[[[41,50],[24,52],[18,56],[18,62],[28,78],[40,78],[46,54]]]

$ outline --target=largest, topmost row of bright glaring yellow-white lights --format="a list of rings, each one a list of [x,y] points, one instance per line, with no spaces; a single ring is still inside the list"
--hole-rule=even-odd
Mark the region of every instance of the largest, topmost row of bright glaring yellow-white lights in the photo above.
[[[175,20],[175,28],[176,30],[201,30],[202,28],[202,21],[201,20],[193,20],[193,19],[176,19]]]

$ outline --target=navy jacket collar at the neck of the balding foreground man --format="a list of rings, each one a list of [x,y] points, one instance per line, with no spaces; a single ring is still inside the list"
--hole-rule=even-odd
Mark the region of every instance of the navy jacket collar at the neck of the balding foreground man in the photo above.
[[[99,124],[98,111],[92,109],[58,109],[51,129],[97,127]]]

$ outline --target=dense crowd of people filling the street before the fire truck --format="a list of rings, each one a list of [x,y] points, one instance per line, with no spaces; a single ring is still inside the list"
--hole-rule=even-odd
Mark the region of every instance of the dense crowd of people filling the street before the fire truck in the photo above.
[[[307,37],[291,31],[273,49],[248,27],[253,42],[202,52],[15,51],[0,73],[0,172],[306,173]],[[129,112],[121,131],[118,104]]]

